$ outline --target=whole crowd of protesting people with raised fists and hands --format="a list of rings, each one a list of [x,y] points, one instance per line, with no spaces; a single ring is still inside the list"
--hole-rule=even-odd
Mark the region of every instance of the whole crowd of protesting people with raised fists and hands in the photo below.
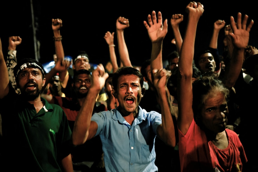
[[[227,25],[218,19],[209,45],[196,51],[204,9],[200,2],[187,4],[184,33],[184,16],[172,15],[169,54],[163,53],[168,19],[160,11],[148,14],[143,25],[151,56],[140,68],[130,61],[123,16],[116,32],[104,35],[110,62],[95,69],[84,50],[72,61],[64,58],[61,19],[52,19],[56,59],[48,73],[34,58],[18,57],[22,38],[9,37],[7,54],[0,39],[1,170],[256,171],[254,21],[241,13]]]

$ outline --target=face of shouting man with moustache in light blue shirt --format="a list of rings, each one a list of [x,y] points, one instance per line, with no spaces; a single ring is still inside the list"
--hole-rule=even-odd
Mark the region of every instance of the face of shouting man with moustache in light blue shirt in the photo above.
[[[134,74],[120,76],[117,90],[113,92],[113,95],[119,102],[122,114],[138,113],[137,108],[143,96],[140,78]]]

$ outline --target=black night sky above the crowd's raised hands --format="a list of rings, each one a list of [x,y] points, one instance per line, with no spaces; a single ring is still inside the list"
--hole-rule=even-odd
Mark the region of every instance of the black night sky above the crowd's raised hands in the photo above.
[[[154,2],[154,1],[150,1]],[[37,22],[37,39],[40,41],[40,59],[41,63],[49,62],[53,59],[54,41],[51,28],[51,19],[60,18],[63,20],[63,27],[60,32],[63,36],[63,47],[65,55],[73,56],[78,50],[84,50],[89,54],[91,63],[106,64],[109,60],[108,45],[104,34],[107,31],[115,32],[116,19],[124,16],[129,19],[130,27],[125,30],[125,42],[128,46],[130,59],[133,65],[141,63],[150,58],[151,42],[148,33],[143,25],[147,20],[148,14],[152,10],[160,10],[163,14],[163,20],[169,19],[168,34],[166,35],[163,48],[164,54],[169,52],[174,46],[170,41],[174,38],[170,25],[172,14],[181,13],[184,15],[184,21],[180,24],[180,31],[184,35],[187,14],[185,7],[189,1],[157,1],[157,3],[148,3],[148,1],[33,1],[34,16]],[[222,3],[220,3],[222,2]],[[224,3],[226,4],[224,4]],[[105,4],[104,4],[105,3]],[[198,23],[196,35],[196,50],[205,48],[209,44],[213,30],[213,23],[218,19],[224,19],[226,25],[230,24],[230,16],[236,17],[237,12],[242,15],[247,14],[249,20],[254,20],[254,26],[250,32],[251,45],[258,47],[258,15],[257,7],[254,1],[201,1],[204,4],[204,13]],[[14,0],[1,4],[1,28],[0,37],[3,46],[4,55],[7,53],[8,37],[20,36],[22,44],[17,50],[17,58],[31,57],[34,55],[33,31],[31,27],[31,2],[29,0]],[[257,22],[257,23],[256,23]],[[219,34],[218,48],[222,52],[222,40],[224,30]],[[116,34],[115,44],[117,45]],[[119,58],[118,47],[116,56]]]

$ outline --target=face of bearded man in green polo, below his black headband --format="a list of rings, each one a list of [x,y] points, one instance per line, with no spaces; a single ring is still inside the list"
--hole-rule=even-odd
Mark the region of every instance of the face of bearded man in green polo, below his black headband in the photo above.
[[[38,68],[25,68],[17,76],[17,86],[27,101],[33,101],[40,96],[42,87],[45,85],[45,78]]]

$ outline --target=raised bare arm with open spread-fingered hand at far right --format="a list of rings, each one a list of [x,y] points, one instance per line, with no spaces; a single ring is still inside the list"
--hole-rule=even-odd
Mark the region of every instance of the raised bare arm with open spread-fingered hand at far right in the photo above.
[[[235,23],[233,16],[230,17],[232,31],[229,33],[233,44],[233,54],[230,59],[229,66],[225,71],[223,82],[228,88],[235,85],[237,78],[239,77],[240,71],[242,70],[243,57],[245,47],[249,42],[249,32],[254,24],[251,20],[249,25],[246,27],[248,16],[245,15],[242,21],[242,14],[237,14],[237,22]]]

